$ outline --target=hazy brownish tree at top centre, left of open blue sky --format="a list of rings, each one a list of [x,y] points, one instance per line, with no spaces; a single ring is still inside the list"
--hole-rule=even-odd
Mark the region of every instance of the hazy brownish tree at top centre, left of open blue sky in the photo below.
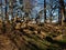
[[[31,9],[32,9],[31,0],[23,0],[23,7],[25,11],[25,17],[29,17]]]

